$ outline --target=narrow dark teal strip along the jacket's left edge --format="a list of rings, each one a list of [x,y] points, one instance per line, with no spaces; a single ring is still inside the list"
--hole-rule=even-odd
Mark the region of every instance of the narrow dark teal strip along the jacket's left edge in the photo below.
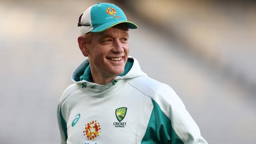
[[[67,123],[62,115],[61,100],[59,100],[59,103],[58,103],[57,119],[59,124],[61,144],[67,144]]]

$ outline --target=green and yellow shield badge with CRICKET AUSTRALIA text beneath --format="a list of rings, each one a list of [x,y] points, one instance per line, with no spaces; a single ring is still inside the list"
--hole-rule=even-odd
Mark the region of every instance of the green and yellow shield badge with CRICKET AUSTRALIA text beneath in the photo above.
[[[120,107],[118,109],[115,110],[115,116],[117,117],[117,120],[119,122],[114,122],[113,125],[115,127],[124,127],[126,126],[126,122],[121,122],[125,115],[126,115],[126,111],[127,111],[127,107]]]

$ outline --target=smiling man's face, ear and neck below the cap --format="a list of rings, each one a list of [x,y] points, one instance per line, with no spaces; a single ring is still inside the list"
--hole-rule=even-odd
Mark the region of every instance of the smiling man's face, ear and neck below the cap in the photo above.
[[[90,35],[88,42],[87,35]],[[129,54],[128,39],[126,23],[100,33],[87,33],[78,37],[80,50],[89,58],[94,83],[107,84],[124,72]]]

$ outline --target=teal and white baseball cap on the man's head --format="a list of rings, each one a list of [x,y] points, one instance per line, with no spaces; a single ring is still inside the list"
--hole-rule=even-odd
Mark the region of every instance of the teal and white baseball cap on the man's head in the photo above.
[[[128,28],[138,28],[136,24],[127,20],[124,12],[118,6],[109,3],[100,3],[90,6],[79,17],[81,35],[88,32],[101,32],[120,23],[126,23]]]

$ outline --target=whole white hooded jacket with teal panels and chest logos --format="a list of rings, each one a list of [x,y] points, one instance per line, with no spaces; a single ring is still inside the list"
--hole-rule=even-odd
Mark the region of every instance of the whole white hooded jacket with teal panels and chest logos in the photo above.
[[[86,59],[59,100],[61,144],[207,144],[174,90],[149,78],[133,57],[106,85],[90,77]]]

